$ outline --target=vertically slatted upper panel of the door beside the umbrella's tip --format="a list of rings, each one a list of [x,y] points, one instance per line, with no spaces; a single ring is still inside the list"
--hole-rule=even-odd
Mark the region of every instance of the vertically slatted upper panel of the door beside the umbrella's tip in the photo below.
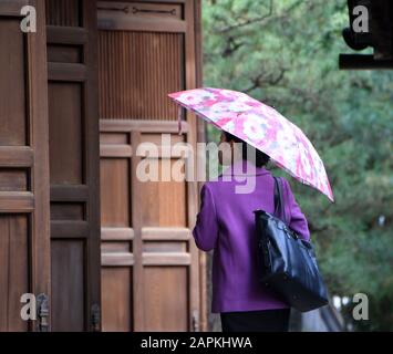
[[[99,33],[100,118],[176,119],[167,94],[183,87],[183,35]]]

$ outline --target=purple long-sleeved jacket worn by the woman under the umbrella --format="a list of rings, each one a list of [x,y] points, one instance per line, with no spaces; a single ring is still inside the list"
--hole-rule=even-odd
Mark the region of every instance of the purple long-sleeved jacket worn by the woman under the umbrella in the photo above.
[[[204,184],[200,211],[193,236],[197,247],[213,254],[211,312],[283,309],[282,302],[257,279],[254,210],[273,212],[273,178],[265,167],[254,167],[256,188],[250,194],[235,194],[234,180],[244,176],[250,163],[240,160],[227,168],[215,181]],[[232,180],[224,180],[224,176]],[[250,175],[248,173],[248,175]],[[225,177],[228,178],[228,177]],[[304,215],[294,200],[290,185],[283,181],[283,205],[289,227],[310,239]]]

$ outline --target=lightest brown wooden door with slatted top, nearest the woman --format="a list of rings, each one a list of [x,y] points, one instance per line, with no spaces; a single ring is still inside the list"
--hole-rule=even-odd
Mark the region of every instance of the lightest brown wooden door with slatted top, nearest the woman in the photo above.
[[[195,87],[195,1],[99,1],[102,308],[104,331],[198,331],[197,184],[136,178],[159,146],[196,144],[195,116],[167,93]],[[162,142],[162,134],[170,143]]]

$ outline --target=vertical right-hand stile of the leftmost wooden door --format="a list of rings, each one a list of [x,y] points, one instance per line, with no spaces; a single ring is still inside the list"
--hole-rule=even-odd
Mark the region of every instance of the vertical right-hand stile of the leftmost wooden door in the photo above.
[[[48,146],[48,69],[45,3],[34,1],[37,7],[37,33],[28,34],[30,136],[34,149],[32,167],[32,189],[34,192],[34,214],[31,218],[32,240],[32,292],[50,291],[50,209],[49,209],[49,146]]]

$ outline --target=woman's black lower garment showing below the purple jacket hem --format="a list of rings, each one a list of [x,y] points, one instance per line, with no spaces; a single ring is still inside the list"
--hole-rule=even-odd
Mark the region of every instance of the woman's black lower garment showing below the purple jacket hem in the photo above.
[[[288,332],[290,309],[221,312],[223,332]]]

